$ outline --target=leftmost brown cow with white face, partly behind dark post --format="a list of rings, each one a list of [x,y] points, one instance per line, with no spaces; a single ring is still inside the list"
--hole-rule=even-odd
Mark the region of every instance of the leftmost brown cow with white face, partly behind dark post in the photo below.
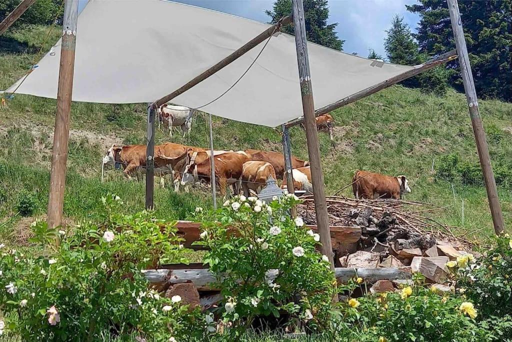
[[[178,144],[169,143],[155,146],[155,174],[160,176],[162,187],[164,186],[164,176],[175,173],[174,168],[180,160],[186,158],[186,151],[186,148]],[[134,179],[135,175],[139,179],[140,174],[145,173],[146,146],[112,145],[103,157],[103,164],[114,165],[116,169],[122,167],[126,178]]]

